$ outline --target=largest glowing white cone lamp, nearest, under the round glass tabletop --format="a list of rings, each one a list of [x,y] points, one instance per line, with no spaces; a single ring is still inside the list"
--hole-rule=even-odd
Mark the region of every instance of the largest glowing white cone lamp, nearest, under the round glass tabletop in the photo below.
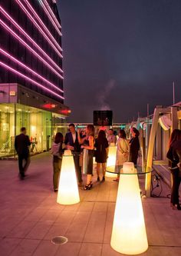
[[[134,173],[133,163],[123,164],[110,241],[121,254],[141,254],[148,248],[140,187]]]

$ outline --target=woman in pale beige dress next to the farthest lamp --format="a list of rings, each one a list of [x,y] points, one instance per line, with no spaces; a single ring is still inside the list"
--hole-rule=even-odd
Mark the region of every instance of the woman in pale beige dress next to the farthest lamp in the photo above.
[[[117,158],[116,158],[116,165],[119,168],[123,168],[123,163],[128,161],[129,157],[129,143],[127,140],[127,135],[124,130],[120,130],[119,138],[117,140]],[[117,179],[114,181],[119,181],[120,175],[117,175]]]

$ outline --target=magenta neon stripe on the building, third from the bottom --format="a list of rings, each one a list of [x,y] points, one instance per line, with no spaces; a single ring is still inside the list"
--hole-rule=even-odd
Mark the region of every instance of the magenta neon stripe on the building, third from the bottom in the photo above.
[[[38,55],[37,52],[35,52],[25,41],[23,41],[14,31],[12,31],[11,28],[8,27],[8,25],[5,24],[5,22],[2,22],[2,20],[0,19],[0,22],[2,23],[2,25],[4,26],[4,28],[6,30],[8,30],[9,32],[12,33],[12,35],[15,36],[15,38],[18,39],[18,41],[20,41],[23,45],[25,45],[26,48],[28,48],[31,52],[34,53],[34,55],[36,55],[39,59],[41,59],[41,62],[44,62],[44,65],[48,66],[48,68],[50,68],[56,75],[58,75],[61,79],[63,79],[63,77],[58,73],[58,71],[56,71],[54,68],[51,67],[51,65],[48,64],[48,62],[44,61],[43,58],[41,58],[40,55]]]

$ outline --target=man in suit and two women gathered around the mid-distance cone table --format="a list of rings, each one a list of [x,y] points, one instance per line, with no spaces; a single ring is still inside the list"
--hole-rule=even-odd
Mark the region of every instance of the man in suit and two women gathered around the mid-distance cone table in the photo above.
[[[82,171],[81,171],[81,151],[83,154],[83,173],[87,174],[87,183],[84,185],[84,189],[90,189],[92,187],[92,175],[93,175],[93,156],[94,156],[94,125],[87,125],[85,134],[82,134],[79,130],[75,130],[75,125],[69,125],[69,132],[63,135],[58,132],[55,135],[54,143],[51,148],[51,154],[53,155],[53,183],[54,191],[58,191],[58,177],[61,171],[62,155],[65,149],[71,150],[74,157],[74,166],[77,173],[78,185],[83,186]],[[63,148],[64,143],[64,148]]]

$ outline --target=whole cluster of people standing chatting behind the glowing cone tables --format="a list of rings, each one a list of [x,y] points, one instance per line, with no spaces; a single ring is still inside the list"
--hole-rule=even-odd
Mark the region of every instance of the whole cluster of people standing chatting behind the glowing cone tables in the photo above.
[[[74,124],[69,125],[69,132],[63,135],[58,132],[55,135],[54,143],[51,148],[53,155],[53,183],[54,191],[58,191],[58,177],[61,171],[61,161],[64,149],[69,149],[74,157],[74,166],[77,172],[77,181],[80,187],[83,187],[82,173],[87,175],[87,182],[84,190],[92,188],[93,176],[93,158],[97,162],[97,181],[100,181],[100,167],[102,167],[101,181],[105,181],[105,171],[108,158],[109,145],[117,144],[117,161],[116,165],[122,166],[125,161],[133,161],[137,165],[137,156],[140,149],[139,131],[131,128],[132,138],[127,140],[124,130],[120,130],[119,138],[114,135],[114,130],[106,131],[100,129],[95,139],[94,125],[87,125],[84,133],[75,129]],[[63,148],[64,143],[64,148]],[[116,181],[118,181],[117,178]]]

